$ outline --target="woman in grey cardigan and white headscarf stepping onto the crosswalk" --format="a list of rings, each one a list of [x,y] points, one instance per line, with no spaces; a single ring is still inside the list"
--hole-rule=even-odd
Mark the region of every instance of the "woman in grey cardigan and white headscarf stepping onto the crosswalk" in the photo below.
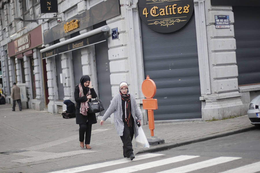
[[[138,110],[135,97],[129,94],[127,82],[120,83],[119,93],[113,97],[100,125],[103,125],[112,113],[114,113],[116,131],[123,142],[123,156],[133,160],[135,158],[132,146],[133,135],[138,136],[135,120],[138,119],[141,125],[142,115]]]

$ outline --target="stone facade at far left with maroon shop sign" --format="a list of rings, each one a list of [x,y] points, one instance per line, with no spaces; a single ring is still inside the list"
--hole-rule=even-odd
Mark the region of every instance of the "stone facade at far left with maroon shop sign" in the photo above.
[[[10,92],[13,82],[25,86],[22,93],[22,107],[43,110],[44,91],[42,80],[42,28],[36,22],[25,20],[37,18],[40,1],[8,0],[1,3],[1,64],[3,67],[3,92],[7,102],[12,103]],[[23,88],[23,87],[22,87]]]

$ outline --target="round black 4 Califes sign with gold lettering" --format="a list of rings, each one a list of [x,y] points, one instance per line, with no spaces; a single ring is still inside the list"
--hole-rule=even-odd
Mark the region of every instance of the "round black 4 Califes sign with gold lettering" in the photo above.
[[[139,0],[139,16],[152,30],[170,33],[181,29],[194,11],[193,0]]]

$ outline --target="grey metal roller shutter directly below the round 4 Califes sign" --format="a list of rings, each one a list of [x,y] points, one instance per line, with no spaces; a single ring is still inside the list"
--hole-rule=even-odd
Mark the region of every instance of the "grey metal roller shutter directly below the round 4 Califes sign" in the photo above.
[[[200,78],[194,13],[182,29],[157,33],[143,22],[144,75],[156,84],[154,120],[201,118]]]

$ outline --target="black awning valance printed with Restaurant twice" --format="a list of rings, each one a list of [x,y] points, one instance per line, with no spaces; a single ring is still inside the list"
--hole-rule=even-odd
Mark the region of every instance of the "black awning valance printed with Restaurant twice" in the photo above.
[[[105,40],[106,39],[105,39],[104,33],[103,32],[98,33],[98,34],[92,35],[90,37],[86,37],[81,40],[77,40],[75,42],[48,50],[46,52],[42,52],[42,58],[55,56],[58,54],[62,54],[62,53],[69,52],[69,51],[72,51],[75,49],[83,48],[83,47],[89,46],[91,44],[95,44],[97,42],[101,42],[101,41],[105,41]]]

